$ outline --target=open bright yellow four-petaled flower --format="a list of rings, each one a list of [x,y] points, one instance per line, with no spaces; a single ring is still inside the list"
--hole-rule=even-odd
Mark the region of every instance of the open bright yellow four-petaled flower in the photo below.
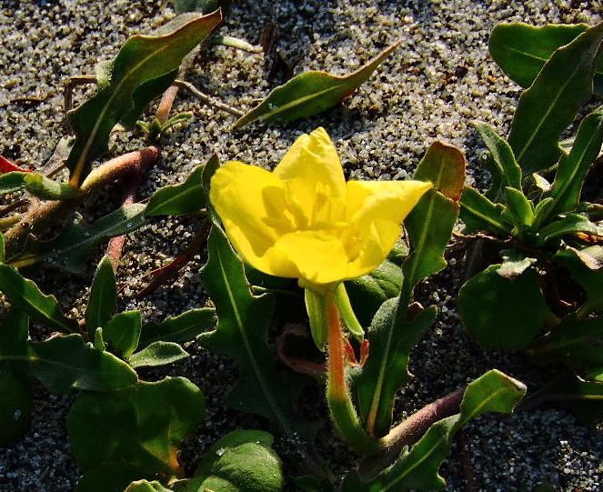
[[[227,162],[213,176],[209,197],[247,263],[328,288],[379,266],[402,220],[431,186],[346,182],[335,146],[318,128],[297,138],[272,173]]]

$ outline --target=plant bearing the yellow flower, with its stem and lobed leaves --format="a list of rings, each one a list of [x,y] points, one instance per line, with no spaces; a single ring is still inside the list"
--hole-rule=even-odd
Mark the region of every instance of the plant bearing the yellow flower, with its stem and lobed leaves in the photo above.
[[[202,278],[218,324],[200,343],[236,359],[239,379],[228,404],[267,417],[289,439],[296,438],[307,470],[314,471],[317,428],[292,408],[304,381],[290,377],[285,383],[266,342],[274,296],[252,294],[237,254],[269,276],[297,280],[312,338],[327,352],[329,415],[347,444],[367,457],[343,490],[443,487],[437,469],[458,428],[483,412],[512,411],[525,391],[518,381],[490,371],[391,428],[409,352],[437,313],[436,306],[411,305],[412,293],[446,266],[443,251],[457,219],[465,159],[455,147],[437,142],[414,177],[346,182],[335,146],[318,128],[299,137],[272,173],[232,161],[211,178],[216,216]],[[404,280],[399,296],[387,299],[367,327],[367,344],[342,282],[386,260],[405,217],[410,248],[402,264]],[[358,343],[370,347],[360,363]],[[307,479],[301,477],[298,485]]]

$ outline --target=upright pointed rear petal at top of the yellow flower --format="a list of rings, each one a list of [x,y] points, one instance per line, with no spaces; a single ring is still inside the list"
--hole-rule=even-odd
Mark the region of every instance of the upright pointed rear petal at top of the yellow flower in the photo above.
[[[291,199],[303,208],[308,223],[316,216],[316,209],[322,206],[319,201],[324,200],[324,196],[331,202],[340,202],[340,206],[330,208],[333,213],[342,213],[346,179],[337,150],[324,128],[297,138],[274,174],[286,184]]]

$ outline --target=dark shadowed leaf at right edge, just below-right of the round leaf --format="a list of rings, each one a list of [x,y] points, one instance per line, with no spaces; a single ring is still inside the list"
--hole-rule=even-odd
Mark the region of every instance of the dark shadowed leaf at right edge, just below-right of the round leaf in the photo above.
[[[559,360],[573,367],[603,366],[603,317],[578,319],[568,315],[527,352],[545,363]]]

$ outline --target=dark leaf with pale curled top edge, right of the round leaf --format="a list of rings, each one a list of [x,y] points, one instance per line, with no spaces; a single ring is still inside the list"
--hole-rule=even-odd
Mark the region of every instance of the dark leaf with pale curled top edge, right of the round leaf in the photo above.
[[[588,308],[603,311],[603,268],[589,268],[578,256],[580,254],[588,256],[590,251],[598,249],[603,249],[603,246],[589,246],[582,250],[569,247],[559,249],[555,255],[555,261],[567,268],[569,275],[584,288],[587,293]]]

